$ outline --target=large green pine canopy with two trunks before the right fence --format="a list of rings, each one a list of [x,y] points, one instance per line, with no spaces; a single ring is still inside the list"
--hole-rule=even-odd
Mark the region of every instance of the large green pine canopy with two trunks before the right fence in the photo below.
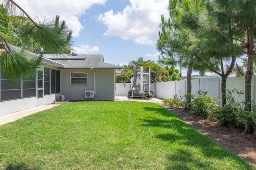
[[[222,0],[228,4],[225,0]],[[170,0],[170,17],[160,27],[157,48],[158,62],[178,63],[182,67],[205,72],[207,69],[222,77],[222,106],[226,103],[226,78],[235,67],[237,56],[244,53],[233,38],[232,19],[228,13],[216,12],[216,1]],[[226,66],[226,67],[225,67]],[[236,64],[236,67],[238,65]],[[189,70],[189,69],[188,69]],[[225,71],[227,70],[227,71]],[[239,69],[236,69],[239,70]],[[191,93],[188,71],[187,93]],[[187,98],[190,100],[190,98]]]

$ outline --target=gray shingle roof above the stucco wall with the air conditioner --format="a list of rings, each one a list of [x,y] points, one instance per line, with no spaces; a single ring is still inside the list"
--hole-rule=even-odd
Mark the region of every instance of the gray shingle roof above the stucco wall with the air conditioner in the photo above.
[[[103,55],[44,54],[44,57],[63,64],[63,68],[122,68],[122,66],[104,62]]]

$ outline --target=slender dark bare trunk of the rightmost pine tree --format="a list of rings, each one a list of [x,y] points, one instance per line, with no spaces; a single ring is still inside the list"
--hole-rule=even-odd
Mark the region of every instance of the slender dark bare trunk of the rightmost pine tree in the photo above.
[[[244,111],[252,111],[251,108],[251,84],[252,84],[252,72],[253,72],[253,54],[254,54],[254,35],[253,35],[253,26],[248,28],[249,37],[248,37],[248,66],[245,74],[245,84],[244,84],[244,95],[245,95],[245,104]],[[253,134],[253,124],[250,121],[250,118],[246,121],[244,128],[244,134]]]

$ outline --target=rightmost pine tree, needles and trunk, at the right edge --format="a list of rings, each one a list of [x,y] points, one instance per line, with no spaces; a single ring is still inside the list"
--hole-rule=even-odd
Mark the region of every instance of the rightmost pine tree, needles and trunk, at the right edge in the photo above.
[[[255,0],[214,0],[212,12],[220,14],[221,18],[230,20],[231,28],[228,36],[239,46],[234,51],[240,50],[248,59],[244,86],[244,110],[248,113],[251,108],[251,83],[255,52],[255,29],[256,29],[256,3]],[[224,14],[224,15],[223,15]],[[226,17],[224,17],[226,16]],[[251,120],[246,122],[244,134],[253,134]]]

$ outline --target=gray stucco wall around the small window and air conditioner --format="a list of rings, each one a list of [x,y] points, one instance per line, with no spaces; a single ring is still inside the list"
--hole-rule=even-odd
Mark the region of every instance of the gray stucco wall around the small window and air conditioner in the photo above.
[[[70,84],[70,72],[87,72],[87,85]],[[85,90],[94,90],[94,72],[96,72],[96,97],[85,98]],[[114,69],[61,69],[60,94],[65,100],[115,100],[115,70]]]

